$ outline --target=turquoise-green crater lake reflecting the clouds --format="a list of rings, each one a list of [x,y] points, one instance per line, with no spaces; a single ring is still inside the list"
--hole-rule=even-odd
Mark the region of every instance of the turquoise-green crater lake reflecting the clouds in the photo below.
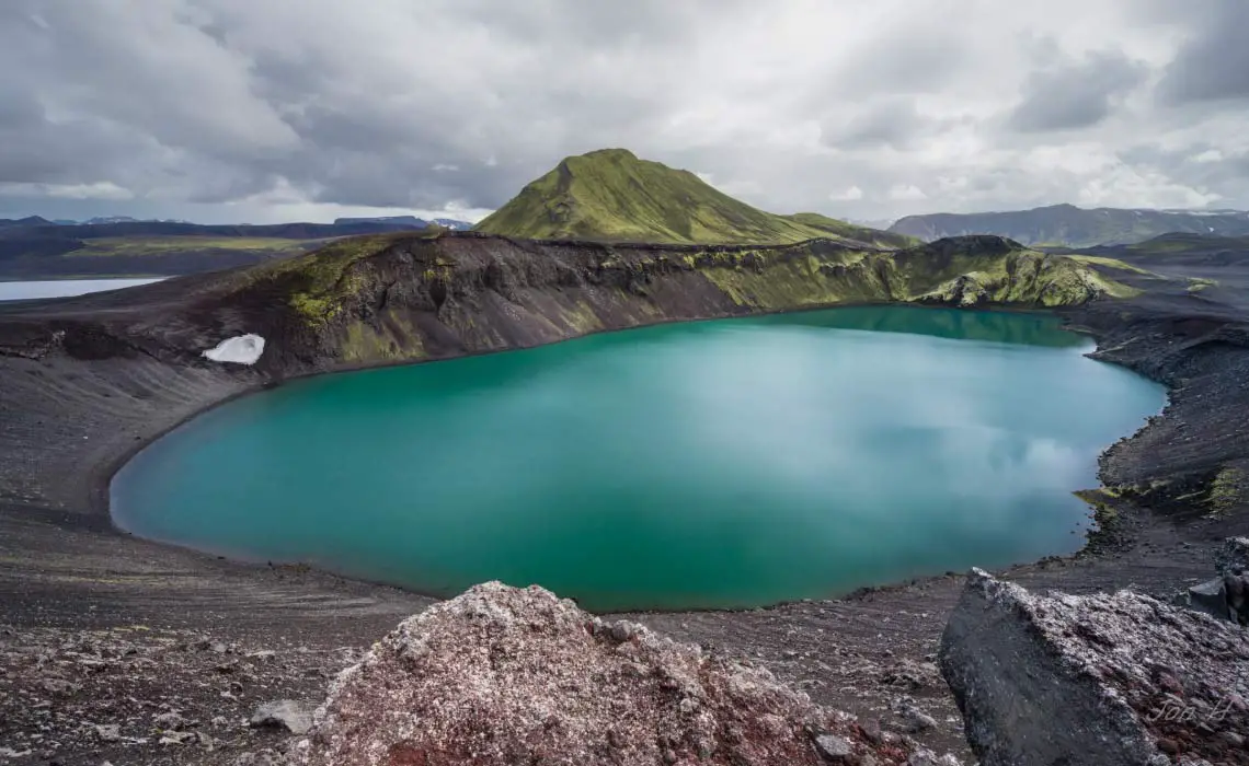
[[[753,606],[1074,551],[1164,400],[1038,316],[843,308],[294,382],[112,484],[135,534],[450,595]]]

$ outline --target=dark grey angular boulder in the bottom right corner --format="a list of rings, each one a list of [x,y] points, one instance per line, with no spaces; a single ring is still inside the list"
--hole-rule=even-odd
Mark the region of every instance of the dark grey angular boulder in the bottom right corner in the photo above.
[[[982,766],[1249,764],[1249,633],[1205,614],[973,570],[939,661]]]

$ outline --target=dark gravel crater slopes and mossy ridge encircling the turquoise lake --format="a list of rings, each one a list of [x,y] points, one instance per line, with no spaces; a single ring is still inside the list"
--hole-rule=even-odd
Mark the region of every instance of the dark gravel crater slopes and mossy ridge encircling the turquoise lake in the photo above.
[[[290,376],[651,322],[879,301],[1058,307],[1097,336],[1103,358],[1165,381],[1173,397],[1162,418],[1103,459],[1113,489],[1100,498],[1110,509],[1102,514],[1102,553],[1012,576],[1033,588],[1133,584],[1169,595],[1205,575],[1215,540],[1247,531],[1249,272],[1210,263],[1204,278],[1218,284],[1192,289],[1187,278],[1149,273],[1147,256],[1114,257],[1125,263],[1044,256],[994,237],[886,253],[831,242],[661,248],[400,236],[252,269],[0,306],[0,747],[29,746],[66,764],[231,764],[240,750],[262,746],[260,735],[207,727],[224,744],[179,750],[155,739],[101,742],[90,724],[130,721],[126,695],[150,709],[124,724],[126,736],[149,736],[150,715],[162,706],[237,721],[275,695],[317,699],[325,691],[317,674],[343,661],[337,647],[367,646],[427,603],[112,533],[100,513],[104,482],[130,450],[215,402]],[[255,368],[200,356],[247,332],[269,341]],[[821,704],[887,726],[903,725],[891,705],[914,696],[937,724],[921,739],[950,747],[962,724],[926,656],[959,585],[936,578],[838,601],[641,619],[673,638],[752,656]],[[134,625],[152,633],[125,634],[125,642],[154,664],[132,669],[131,655],[119,654],[69,699],[37,676],[27,684],[39,666],[21,664],[36,651],[27,647],[72,665],[85,650],[59,647],[100,645],[82,631]],[[255,662],[166,654],[161,641],[199,645],[187,631],[237,642],[242,652],[277,650],[281,661],[274,671],[242,670]],[[37,706],[45,697],[50,706]]]

